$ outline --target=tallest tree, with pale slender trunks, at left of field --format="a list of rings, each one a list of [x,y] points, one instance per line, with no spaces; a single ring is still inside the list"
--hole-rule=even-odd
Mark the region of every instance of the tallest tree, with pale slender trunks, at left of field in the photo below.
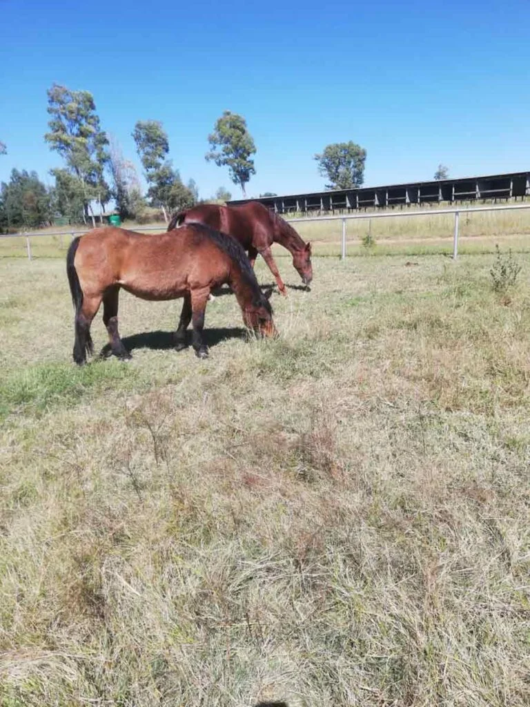
[[[45,140],[50,149],[66,161],[71,174],[83,186],[85,214],[95,219],[91,201],[97,199],[100,208],[110,199],[110,188],[104,170],[108,162],[108,139],[100,127],[94,98],[87,90],[69,90],[54,83],[48,92],[49,132]]]

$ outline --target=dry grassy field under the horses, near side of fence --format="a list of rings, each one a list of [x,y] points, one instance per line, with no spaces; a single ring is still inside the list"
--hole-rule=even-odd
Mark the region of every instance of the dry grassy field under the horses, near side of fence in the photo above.
[[[3,259],[1,707],[527,706],[517,259],[316,258],[277,341],[210,303],[208,361],[125,294],[82,369],[64,262]]]

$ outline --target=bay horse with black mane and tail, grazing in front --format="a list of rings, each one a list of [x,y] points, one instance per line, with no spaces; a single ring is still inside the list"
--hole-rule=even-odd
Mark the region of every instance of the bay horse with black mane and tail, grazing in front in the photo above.
[[[227,282],[245,325],[266,337],[276,335],[271,291],[261,292],[245,251],[230,236],[200,224],[158,235],[96,228],[72,241],[66,271],[76,310],[73,360],[79,364],[93,351],[90,323],[101,303],[112,354],[130,358],[118,334],[119,288],[145,300],[183,297],[175,348],[185,348],[186,329],[193,320],[193,347],[199,358],[208,356],[202,339],[208,295]]]

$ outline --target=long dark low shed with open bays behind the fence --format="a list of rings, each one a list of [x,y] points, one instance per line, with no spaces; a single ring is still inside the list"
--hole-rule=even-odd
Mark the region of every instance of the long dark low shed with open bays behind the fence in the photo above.
[[[237,199],[228,204],[259,201],[278,214],[307,211],[356,211],[399,204],[432,204],[440,201],[510,199],[530,196],[530,170],[503,175],[463,177],[430,182],[407,182],[384,187],[336,189],[330,192],[286,194],[257,199]]]

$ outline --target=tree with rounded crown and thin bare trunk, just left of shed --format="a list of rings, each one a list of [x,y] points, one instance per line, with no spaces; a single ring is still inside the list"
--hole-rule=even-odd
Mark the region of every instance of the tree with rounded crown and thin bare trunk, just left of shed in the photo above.
[[[213,133],[208,135],[211,151],[206,153],[206,160],[213,160],[218,167],[228,167],[230,179],[241,187],[243,197],[247,196],[245,185],[251,175],[256,174],[254,160],[256,153],[252,135],[247,130],[244,117],[225,110],[216,121]]]

